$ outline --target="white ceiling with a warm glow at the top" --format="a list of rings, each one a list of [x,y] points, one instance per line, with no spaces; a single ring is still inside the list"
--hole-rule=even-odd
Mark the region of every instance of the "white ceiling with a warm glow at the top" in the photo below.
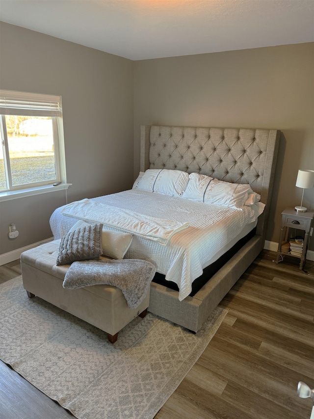
[[[0,20],[132,60],[314,41],[314,0],[0,0]]]

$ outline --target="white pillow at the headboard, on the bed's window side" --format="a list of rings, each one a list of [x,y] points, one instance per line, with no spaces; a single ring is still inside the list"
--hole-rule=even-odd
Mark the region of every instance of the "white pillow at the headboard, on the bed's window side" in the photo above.
[[[182,170],[147,169],[135,188],[158,194],[182,196],[188,181],[188,173]]]

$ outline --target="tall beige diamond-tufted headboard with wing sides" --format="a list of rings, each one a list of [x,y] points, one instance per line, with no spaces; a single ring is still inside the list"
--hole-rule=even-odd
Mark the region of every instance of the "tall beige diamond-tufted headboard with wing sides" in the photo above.
[[[266,204],[257,229],[264,235],[279,138],[278,130],[142,125],[140,170],[178,169],[249,183]]]

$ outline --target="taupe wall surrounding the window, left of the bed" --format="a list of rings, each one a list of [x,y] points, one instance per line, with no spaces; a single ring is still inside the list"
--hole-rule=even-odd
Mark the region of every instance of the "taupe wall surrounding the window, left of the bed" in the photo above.
[[[61,95],[69,202],[131,187],[131,60],[1,22],[0,88]],[[51,237],[50,215],[63,204],[64,191],[1,202],[0,254]]]

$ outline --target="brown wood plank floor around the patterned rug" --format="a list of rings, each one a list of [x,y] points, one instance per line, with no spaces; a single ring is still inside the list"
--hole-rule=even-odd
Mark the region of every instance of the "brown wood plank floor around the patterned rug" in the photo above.
[[[299,381],[314,388],[314,263],[306,263],[310,276],[299,259],[276,265],[274,258],[262,251],[221,301],[227,316],[156,419],[310,418],[313,402],[296,390]],[[0,283],[19,274],[19,261],[0,266]],[[66,417],[0,365],[1,419]]]

